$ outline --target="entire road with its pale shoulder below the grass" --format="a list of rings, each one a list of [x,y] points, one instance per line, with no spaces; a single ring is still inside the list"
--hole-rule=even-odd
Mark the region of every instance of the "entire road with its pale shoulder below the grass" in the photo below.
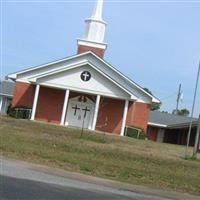
[[[0,159],[0,167],[1,200],[172,200],[108,187],[98,181],[91,183],[87,178],[80,179],[79,174],[77,178],[53,175],[19,161]]]

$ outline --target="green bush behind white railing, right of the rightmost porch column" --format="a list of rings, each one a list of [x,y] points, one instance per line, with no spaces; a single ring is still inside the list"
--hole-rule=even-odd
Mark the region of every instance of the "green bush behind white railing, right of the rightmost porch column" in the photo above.
[[[141,140],[145,140],[147,138],[144,130],[136,127],[126,127],[126,136]]]

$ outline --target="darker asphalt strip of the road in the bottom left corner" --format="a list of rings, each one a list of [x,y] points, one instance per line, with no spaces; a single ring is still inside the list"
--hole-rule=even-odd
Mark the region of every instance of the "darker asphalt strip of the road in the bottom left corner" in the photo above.
[[[130,200],[122,195],[108,192],[88,191],[77,188],[64,187],[60,185],[47,184],[26,179],[17,179],[0,176],[0,199],[24,199],[24,200]]]

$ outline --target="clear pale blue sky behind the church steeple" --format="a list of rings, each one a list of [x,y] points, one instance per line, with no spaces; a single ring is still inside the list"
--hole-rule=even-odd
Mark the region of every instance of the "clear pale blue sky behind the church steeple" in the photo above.
[[[1,78],[75,55],[95,1],[11,1],[1,4]],[[162,101],[161,111],[191,111],[200,61],[200,1],[105,0],[105,60]],[[200,87],[200,84],[199,84]],[[195,116],[200,113],[200,88]]]

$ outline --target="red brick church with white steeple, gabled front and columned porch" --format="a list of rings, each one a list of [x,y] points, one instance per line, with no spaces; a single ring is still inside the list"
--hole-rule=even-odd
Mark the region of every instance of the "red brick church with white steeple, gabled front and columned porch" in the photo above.
[[[8,75],[16,82],[12,107],[31,109],[31,120],[62,126],[121,136],[126,126],[146,131],[150,107],[160,101],[104,60],[102,10],[97,0],[76,55]]]

